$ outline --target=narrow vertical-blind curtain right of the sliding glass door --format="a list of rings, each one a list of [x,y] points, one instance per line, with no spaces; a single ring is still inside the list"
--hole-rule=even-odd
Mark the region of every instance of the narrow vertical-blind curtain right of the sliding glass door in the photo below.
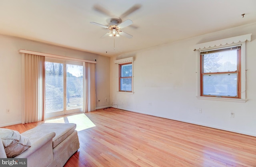
[[[84,112],[95,111],[95,63],[84,62]]]

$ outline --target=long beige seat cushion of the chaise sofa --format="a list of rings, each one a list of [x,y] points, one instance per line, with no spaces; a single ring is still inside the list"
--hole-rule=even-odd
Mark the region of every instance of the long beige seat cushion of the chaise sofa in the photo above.
[[[22,133],[22,135],[27,136],[33,143],[48,132],[55,132],[56,135],[52,139],[52,147],[54,148],[56,145],[66,139],[70,134],[72,134],[75,129],[76,124],[73,123],[44,123]]]

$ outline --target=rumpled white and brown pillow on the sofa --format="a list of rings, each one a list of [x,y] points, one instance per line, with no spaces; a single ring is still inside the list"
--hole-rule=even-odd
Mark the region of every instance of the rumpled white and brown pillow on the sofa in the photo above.
[[[0,128],[0,138],[8,158],[15,157],[31,147],[30,140],[16,130]]]

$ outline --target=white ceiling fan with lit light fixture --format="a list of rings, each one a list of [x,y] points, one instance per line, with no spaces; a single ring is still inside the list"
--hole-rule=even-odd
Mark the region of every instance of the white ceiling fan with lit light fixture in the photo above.
[[[106,34],[104,34],[101,38],[104,38],[106,36],[113,36],[113,37],[118,37],[120,35],[122,36],[125,36],[127,38],[132,38],[133,36],[128,34],[128,33],[125,33],[123,31],[121,31],[120,29],[122,28],[125,28],[127,26],[130,26],[133,24],[132,20],[130,19],[127,19],[125,20],[124,22],[118,24],[118,19],[112,19],[110,20],[110,24],[108,26],[104,26],[102,24],[98,24],[98,23],[95,23],[95,22],[90,22],[90,24],[94,24],[96,26],[100,26],[100,27],[103,27],[103,28],[106,28],[106,29],[109,29],[110,31],[107,32]]]

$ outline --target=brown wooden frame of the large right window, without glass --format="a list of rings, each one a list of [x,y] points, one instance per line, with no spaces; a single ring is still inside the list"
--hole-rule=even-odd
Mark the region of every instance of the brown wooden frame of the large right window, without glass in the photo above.
[[[212,53],[220,53],[223,51],[231,50],[231,48],[234,47],[240,47],[240,49],[236,49],[237,51],[237,70],[236,71],[223,71],[223,72],[208,72],[204,73],[204,53],[208,54],[207,51],[200,51],[200,96],[201,97],[213,97],[213,98],[237,98],[241,99],[241,50],[242,47],[241,45],[233,45],[233,46],[228,46],[228,47],[220,47],[217,49],[212,49],[208,50],[209,52],[212,51]],[[202,53],[202,54],[201,54]],[[203,77],[204,75],[226,75],[226,74],[237,74],[237,96],[219,96],[219,95],[208,95],[208,94],[203,94],[204,90],[204,81]]]

